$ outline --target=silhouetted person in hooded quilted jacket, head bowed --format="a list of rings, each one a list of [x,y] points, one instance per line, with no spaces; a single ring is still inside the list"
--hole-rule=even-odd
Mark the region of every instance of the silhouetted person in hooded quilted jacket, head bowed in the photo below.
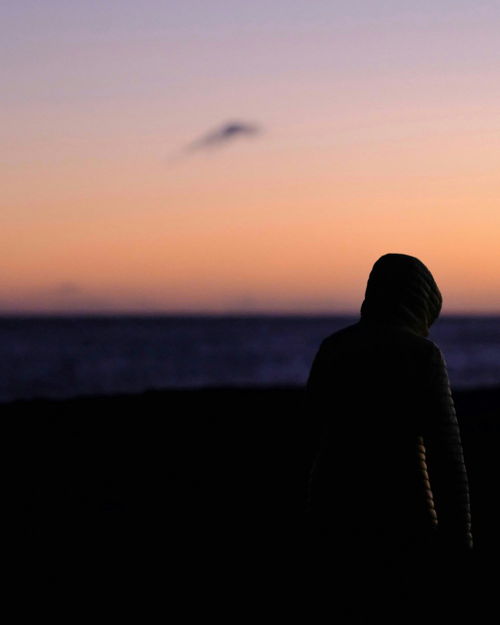
[[[343,574],[346,592],[401,592],[411,578],[425,595],[431,573],[472,547],[446,365],[426,338],[441,304],[421,261],[386,254],[360,321],[327,337],[312,364],[302,424],[309,572]]]

